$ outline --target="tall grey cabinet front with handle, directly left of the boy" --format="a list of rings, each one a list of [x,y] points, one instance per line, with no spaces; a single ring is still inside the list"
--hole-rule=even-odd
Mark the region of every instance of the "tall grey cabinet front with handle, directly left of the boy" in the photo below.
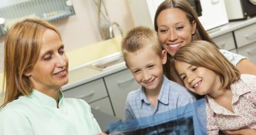
[[[125,119],[125,101],[127,94],[132,90],[137,90],[140,85],[134,80],[134,76],[129,70],[124,70],[104,77],[109,97],[113,105],[116,116]]]

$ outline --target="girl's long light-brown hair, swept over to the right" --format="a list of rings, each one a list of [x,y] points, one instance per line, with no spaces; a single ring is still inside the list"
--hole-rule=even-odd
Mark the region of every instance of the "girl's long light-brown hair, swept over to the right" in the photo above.
[[[192,41],[184,45],[176,52],[174,60],[216,72],[220,76],[222,86],[226,88],[230,88],[231,83],[240,78],[237,68],[208,41]]]

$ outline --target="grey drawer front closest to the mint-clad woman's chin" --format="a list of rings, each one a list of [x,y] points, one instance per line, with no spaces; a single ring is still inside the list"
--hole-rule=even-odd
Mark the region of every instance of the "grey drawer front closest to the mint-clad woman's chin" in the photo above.
[[[87,103],[91,103],[105,96],[107,96],[107,90],[104,86],[103,79],[98,79],[64,91],[64,97],[82,98]]]

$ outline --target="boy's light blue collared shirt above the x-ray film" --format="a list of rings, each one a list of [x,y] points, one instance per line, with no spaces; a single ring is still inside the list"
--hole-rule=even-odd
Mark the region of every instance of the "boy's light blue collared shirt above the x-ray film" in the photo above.
[[[176,109],[188,103],[196,101],[194,95],[185,87],[168,80],[163,76],[161,92],[158,95],[158,103],[153,107],[143,87],[129,92],[125,105],[125,119],[141,118]]]

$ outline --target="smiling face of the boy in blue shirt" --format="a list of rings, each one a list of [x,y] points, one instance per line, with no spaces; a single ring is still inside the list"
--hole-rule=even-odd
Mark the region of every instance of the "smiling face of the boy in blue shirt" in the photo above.
[[[145,90],[157,90],[160,92],[163,83],[163,64],[166,62],[166,51],[162,57],[156,54],[148,45],[137,52],[127,54],[127,65],[134,75],[135,80]]]

